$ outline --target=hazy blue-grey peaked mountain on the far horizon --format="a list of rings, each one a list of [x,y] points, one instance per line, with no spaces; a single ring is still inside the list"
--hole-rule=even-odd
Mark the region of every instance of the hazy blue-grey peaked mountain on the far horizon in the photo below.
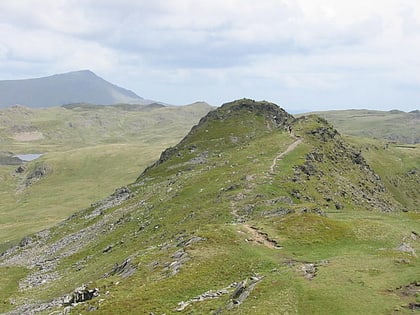
[[[49,107],[72,103],[150,104],[132,91],[82,70],[43,78],[0,81],[0,108],[12,105]]]

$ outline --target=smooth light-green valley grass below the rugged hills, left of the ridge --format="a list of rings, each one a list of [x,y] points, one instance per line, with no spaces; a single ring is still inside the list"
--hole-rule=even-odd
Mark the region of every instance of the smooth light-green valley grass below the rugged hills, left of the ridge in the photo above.
[[[49,153],[28,168],[46,163],[51,174],[26,188],[23,179],[10,175],[14,169],[3,168],[7,179],[0,190],[5,201],[0,207],[0,240],[20,239],[65,219],[75,209],[89,207],[116,187],[133,182],[161,149],[126,144]]]

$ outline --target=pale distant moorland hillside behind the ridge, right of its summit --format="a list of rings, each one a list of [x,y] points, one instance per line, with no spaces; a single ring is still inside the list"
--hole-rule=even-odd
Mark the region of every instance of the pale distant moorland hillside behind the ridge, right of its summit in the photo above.
[[[313,112],[332,123],[341,133],[392,142],[420,143],[420,111],[409,113],[365,109]]]

